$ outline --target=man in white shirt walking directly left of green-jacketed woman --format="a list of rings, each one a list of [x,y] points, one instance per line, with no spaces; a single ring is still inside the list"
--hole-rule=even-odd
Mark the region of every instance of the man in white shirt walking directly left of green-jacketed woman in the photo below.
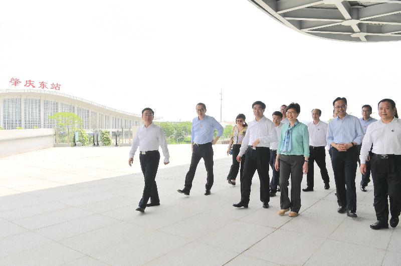
[[[237,161],[242,160],[245,156],[243,181],[241,181],[241,201],[233,204],[234,207],[248,207],[249,197],[251,195],[252,177],[258,170],[260,180],[260,201],[263,202],[262,207],[268,208],[269,195],[269,160],[270,160],[270,144],[277,141],[277,132],[273,122],[266,118],[266,105],[261,101],[252,104],[255,120],[249,122],[248,130],[242,141],[240,153]]]

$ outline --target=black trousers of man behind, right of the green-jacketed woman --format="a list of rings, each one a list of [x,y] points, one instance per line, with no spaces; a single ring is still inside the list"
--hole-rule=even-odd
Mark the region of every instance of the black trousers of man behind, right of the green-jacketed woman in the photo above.
[[[309,147],[309,163],[308,173],[306,174],[306,185],[308,187],[314,186],[314,162],[316,161],[317,166],[320,168],[320,175],[322,176],[323,182],[328,184],[330,182],[329,174],[326,168],[326,150],[325,147]]]

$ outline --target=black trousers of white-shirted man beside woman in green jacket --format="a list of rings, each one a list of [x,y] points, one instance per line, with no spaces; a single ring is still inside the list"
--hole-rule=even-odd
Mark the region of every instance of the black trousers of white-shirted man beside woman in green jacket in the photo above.
[[[241,201],[249,203],[251,195],[252,177],[258,170],[260,180],[260,201],[268,203],[269,195],[269,160],[270,149],[268,147],[257,147],[255,150],[248,147],[244,164],[244,175],[241,181]]]

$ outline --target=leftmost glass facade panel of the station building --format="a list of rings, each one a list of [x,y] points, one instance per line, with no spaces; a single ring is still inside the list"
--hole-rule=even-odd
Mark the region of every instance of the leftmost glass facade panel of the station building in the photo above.
[[[16,129],[22,127],[21,98],[3,99],[3,128]]]

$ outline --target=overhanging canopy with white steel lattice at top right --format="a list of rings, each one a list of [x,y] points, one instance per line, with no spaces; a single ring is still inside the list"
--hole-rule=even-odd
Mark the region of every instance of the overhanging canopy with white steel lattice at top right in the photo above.
[[[300,33],[346,42],[401,40],[400,0],[249,0]]]

